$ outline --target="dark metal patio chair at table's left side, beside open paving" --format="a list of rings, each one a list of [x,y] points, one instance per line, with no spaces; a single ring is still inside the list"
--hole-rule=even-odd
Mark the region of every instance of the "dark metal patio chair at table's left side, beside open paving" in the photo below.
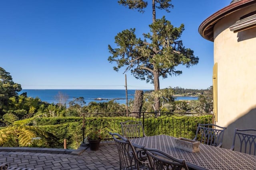
[[[128,139],[122,137],[118,133],[109,133],[112,135],[118,150],[120,170],[149,170],[145,166],[148,162],[142,162],[138,159],[138,154],[141,153],[135,150],[134,145]],[[138,146],[138,145],[136,145]],[[139,146],[138,146],[139,147]]]

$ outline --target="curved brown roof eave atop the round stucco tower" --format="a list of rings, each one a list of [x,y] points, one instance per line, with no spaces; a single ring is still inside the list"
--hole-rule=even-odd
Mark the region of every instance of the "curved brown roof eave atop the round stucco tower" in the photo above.
[[[198,32],[204,39],[207,39],[213,42],[214,41],[213,28],[215,23],[217,23],[221,18],[228,16],[232,12],[241,10],[242,8],[251,6],[253,4],[256,4],[256,0],[240,0],[238,2],[230,4],[229,6],[226,6],[225,8],[222,8],[221,10],[219,10],[218,12],[215,12],[206,20],[204,20],[199,26]]]

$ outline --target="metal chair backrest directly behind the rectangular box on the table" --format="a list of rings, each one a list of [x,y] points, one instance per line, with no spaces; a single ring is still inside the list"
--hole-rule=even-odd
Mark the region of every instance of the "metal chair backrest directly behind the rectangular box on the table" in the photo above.
[[[214,124],[198,124],[194,140],[206,145],[221,147],[226,127]]]

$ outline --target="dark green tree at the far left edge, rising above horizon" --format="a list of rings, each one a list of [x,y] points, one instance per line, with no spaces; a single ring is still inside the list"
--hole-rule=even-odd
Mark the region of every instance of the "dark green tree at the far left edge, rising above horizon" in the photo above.
[[[10,72],[0,67],[0,117],[4,115],[3,109],[8,108],[9,98],[17,97],[21,90],[21,85],[12,81]]]

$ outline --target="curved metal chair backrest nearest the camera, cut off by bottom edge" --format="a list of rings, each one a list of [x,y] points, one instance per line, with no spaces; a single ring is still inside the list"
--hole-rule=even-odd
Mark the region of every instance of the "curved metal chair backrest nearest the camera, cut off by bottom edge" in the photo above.
[[[158,149],[143,148],[152,170],[188,170],[186,162]]]

